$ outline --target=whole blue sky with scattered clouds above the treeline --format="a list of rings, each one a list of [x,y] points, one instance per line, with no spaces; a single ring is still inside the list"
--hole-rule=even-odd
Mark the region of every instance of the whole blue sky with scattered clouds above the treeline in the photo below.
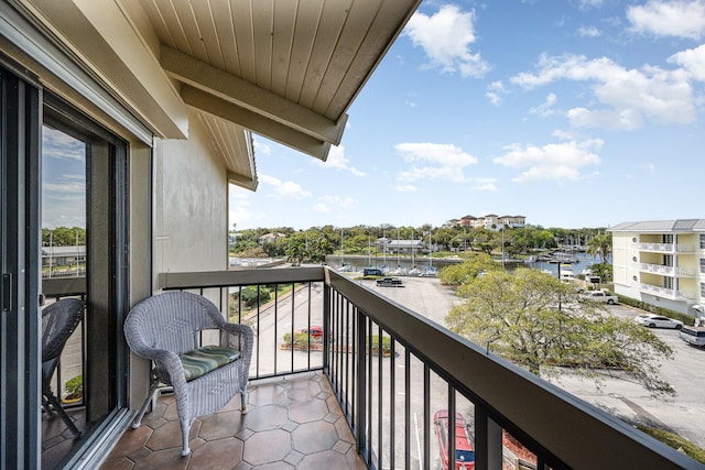
[[[327,162],[256,135],[230,227],[705,218],[705,0],[423,1]]]

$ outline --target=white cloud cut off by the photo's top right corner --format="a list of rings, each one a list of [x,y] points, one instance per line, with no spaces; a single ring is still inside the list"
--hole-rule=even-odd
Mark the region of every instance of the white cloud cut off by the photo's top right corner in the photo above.
[[[631,31],[699,40],[705,35],[704,0],[650,0],[627,8]]]

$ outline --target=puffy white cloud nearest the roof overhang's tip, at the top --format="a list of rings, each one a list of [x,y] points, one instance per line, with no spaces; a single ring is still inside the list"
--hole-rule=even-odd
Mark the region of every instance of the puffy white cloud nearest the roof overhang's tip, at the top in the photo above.
[[[459,72],[464,77],[481,77],[490,67],[480,54],[470,51],[476,40],[474,20],[475,12],[446,4],[432,15],[416,11],[404,33],[424,50],[431,59],[430,67],[441,67],[451,74]]]

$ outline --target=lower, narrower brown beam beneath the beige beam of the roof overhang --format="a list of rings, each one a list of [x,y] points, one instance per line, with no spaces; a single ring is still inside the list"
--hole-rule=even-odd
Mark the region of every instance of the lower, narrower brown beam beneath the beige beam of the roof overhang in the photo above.
[[[296,149],[300,152],[315,156],[324,162],[328,157],[330,143],[314,139],[311,135],[299,132],[280,122],[272,121],[249,109],[223,100],[198,88],[183,85],[181,88],[181,97],[186,105],[199,109],[203,112],[235,122],[246,129],[250,129],[252,132],[262,134],[268,139]]]

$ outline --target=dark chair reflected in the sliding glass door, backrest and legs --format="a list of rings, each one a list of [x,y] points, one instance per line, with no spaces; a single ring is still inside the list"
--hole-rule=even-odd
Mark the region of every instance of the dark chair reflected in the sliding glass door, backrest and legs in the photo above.
[[[75,439],[80,437],[80,431],[54,395],[52,376],[66,341],[83,316],[84,302],[78,298],[62,298],[42,310],[42,407],[48,419],[57,413]]]

